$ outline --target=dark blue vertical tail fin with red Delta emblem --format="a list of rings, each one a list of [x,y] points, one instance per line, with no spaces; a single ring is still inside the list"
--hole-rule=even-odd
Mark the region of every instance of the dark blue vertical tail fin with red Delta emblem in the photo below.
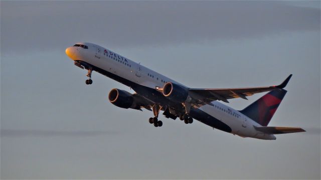
[[[284,89],[270,91],[240,112],[260,125],[267,126],[286,92]]]

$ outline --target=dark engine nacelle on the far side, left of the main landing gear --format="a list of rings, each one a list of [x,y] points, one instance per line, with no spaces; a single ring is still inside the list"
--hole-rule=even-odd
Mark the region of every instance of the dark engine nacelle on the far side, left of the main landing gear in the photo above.
[[[140,109],[140,106],[135,103],[132,94],[124,90],[116,88],[112,89],[108,94],[108,99],[113,105],[117,107],[125,109]]]

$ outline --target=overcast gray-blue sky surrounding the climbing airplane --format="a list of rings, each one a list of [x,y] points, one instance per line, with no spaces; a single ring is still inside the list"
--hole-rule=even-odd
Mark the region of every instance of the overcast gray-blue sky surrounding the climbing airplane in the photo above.
[[[320,178],[319,1],[1,1],[1,178]],[[128,87],[73,65],[91,42],[192,88],[293,74],[270,126],[242,138],[194,121],[148,123],[107,99]],[[264,95],[228,104],[239,110]]]

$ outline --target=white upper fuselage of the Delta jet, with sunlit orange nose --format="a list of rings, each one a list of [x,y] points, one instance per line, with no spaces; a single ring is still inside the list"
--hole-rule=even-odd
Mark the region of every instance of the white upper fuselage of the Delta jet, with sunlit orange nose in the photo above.
[[[103,69],[112,74],[148,88],[162,88],[167,82],[180,84],[162,74],[152,71],[106,48],[91,43],[82,44],[87,45],[89,48],[67,48],[68,53],[67,50],[66,53],[72,60],[84,61],[100,69]],[[276,139],[276,137],[272,134],[265,134],[263,132],[257,131],[254,126],[260,127],[261,125],[248,118],[244,114],[240,113],[239,111],[218,101],[213,101],[212,103],[214,106],[204,105],[199,109],[231,127],[232,134],[258,139]]]

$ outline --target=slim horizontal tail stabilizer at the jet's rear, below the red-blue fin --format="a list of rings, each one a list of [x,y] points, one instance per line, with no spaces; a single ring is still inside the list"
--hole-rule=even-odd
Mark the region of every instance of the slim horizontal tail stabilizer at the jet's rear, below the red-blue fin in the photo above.
[[[305,132],[304,129],[299,127],[256,127],[254,126],[254,128],[266,134],[286,134],[286,133],[294,133],[294,132]]]

